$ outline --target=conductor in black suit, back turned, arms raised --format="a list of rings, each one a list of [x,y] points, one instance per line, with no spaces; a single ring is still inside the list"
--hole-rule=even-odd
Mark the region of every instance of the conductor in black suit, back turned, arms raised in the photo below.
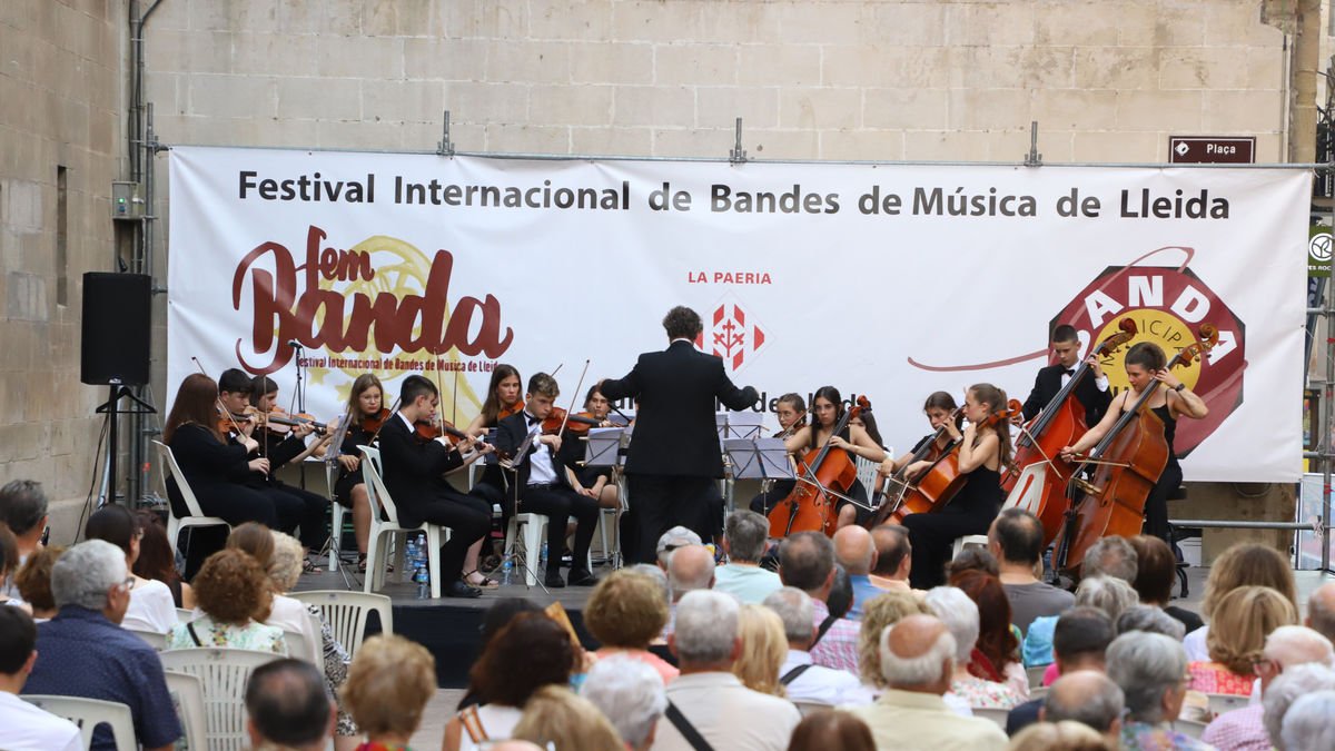
[[[663,317],[669,345],[639,355],[635,367],[598,390],[609,400],[639,400],[634,436],[626,456],[630,516],[627,557],[655,560],[654,543],[674,525],[693,529],[702,540],[718,527],[712,510],[721,508],[717,478],[724,476],[714,428],[714,400],[741,410],[756,404],[754,388],[738,389],[724,361],[696,350],[704,330],[700,314],[677,306]]]

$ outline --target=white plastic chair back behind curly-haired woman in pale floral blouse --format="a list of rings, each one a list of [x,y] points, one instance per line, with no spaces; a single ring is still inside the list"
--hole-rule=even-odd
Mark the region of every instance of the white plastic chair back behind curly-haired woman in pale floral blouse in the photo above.
[[[164,669],[199,679],[204,694],[208,751],[240,751],[247,743],[246,682],[251,671],[279,656],[216,647],[168,649],[160,656]]]

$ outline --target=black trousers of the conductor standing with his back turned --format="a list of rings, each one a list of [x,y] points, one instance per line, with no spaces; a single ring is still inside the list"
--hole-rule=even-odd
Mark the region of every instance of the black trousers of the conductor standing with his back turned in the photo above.
[[[626,477],[633,527],[631,547],[622,539],[626,560],[658,560],[658,537],[678,524],[709,543],[722,524],[724,501],[713,477],[680,477],[669,474],[629,474]],[[714,518],[714,517],[718,518]],[[625,517],[622,517],[625,518]]]

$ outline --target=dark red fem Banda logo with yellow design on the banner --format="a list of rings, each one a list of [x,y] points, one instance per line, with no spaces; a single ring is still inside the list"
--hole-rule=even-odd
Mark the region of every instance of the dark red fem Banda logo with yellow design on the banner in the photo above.
[[[510,349],[514,331],[502,327],[501,301],[494,295],[483,299],[463,295],[453,310],[447,309],[454,270],[449,251],[438,250],[427,263],[419,250],[394,238],[368,238],[351,250],[320,249],[326,237],[314,224],[307,230],[306,262],[300,266],[286,246],[272,241],[255,247],[236,265],[232,309],[243,307],[248,275],[250,346],[254,354],[272,354],[267,365],[254,365],[242,354],[238,338],[236,359],[247,370],[264,374],[287,365],[294,351],[287,345],[291,339],[311,349],[364,351],[372,339],[372,326],[374,349],[380,353],[439,355],[458,349],[465,355],[483,353],[495,359]],[[374,265],[376,254],[386,250],[398,257],[398,263]],[[351,285],[340,291],[322,287],[322,281]]]

